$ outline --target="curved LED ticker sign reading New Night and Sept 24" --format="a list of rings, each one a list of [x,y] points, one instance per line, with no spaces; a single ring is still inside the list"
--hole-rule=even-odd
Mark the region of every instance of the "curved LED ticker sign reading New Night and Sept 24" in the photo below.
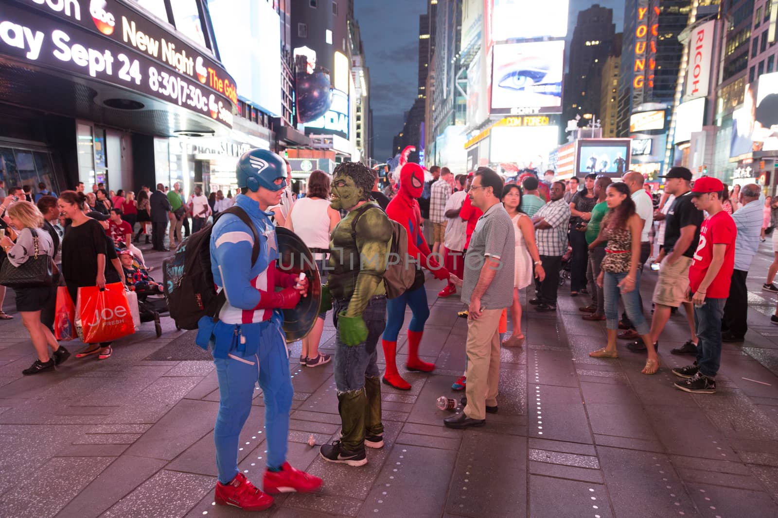
[[[4,4],[0,54],[131,89],[232,127],[233,78],[127,6],[106,0]]]

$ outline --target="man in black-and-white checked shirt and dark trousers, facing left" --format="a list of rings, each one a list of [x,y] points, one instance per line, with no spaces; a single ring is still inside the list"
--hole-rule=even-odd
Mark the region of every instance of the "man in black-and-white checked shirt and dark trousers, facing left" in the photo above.
[[[545,270],[545,280],[535,279],[535,293],[538,297],[530,301],[538,311],[556,311],[559,268],[562,267],[562,256],[567,252],[567,226],[570,219],[570,207],[564,198],[565,189],[562,182],[552,183],[551,201],[532,217],[535,242]]]

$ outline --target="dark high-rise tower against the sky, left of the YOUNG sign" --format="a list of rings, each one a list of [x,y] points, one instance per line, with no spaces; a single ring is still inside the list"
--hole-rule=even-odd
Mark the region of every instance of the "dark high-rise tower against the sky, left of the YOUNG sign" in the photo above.
[[[605,61],[612,54],[615,28],[613,9],[594,4],[578,13],[562,96],[566,120],[578,115],[580,126],[584,126],[592,119],[602,119],[601,75]]]

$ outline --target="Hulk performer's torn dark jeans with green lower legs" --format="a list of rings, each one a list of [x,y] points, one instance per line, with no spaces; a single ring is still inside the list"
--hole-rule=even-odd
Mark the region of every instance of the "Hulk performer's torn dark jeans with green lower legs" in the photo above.
[[[345,311],[349,301],[335,299],[332,309],[337,315]],[[362,318],[367,326],[367,339],[356,346],[346,346],[335,337],[335,387],[338,389],[338,413],[341,416],[341,443],[345,450],[364,449],[365,435],[384,433],[381,422],[381,384],[376,346],[386,326],[387,299],[373,297]]]

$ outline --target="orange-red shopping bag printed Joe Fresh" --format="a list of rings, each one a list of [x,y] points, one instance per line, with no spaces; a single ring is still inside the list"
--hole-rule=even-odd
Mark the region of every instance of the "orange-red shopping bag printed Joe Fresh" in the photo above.
[[[111,342],[135,332],[122,283],[106,284],[105,290],[79,288],[79,320],[84,343]]]

